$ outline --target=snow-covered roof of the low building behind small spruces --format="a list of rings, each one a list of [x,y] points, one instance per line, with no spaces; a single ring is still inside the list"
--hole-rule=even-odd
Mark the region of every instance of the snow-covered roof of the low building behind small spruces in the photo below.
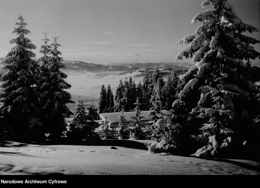
[[[143,116],[145,118],[141,119],[141,124],[145,124],[147,121],[149,121],[150,119],[148,118],[148,114],[149,114],[149,110],[147,111],[141,111],[141,115],[140,116]],[[167,110],[161,110],[161,113],[164,113],[165,115],[167,114],[171,114],[171,112],[167,111]],[[117,128],[118,127],[118,124],[119,124],[119,117],[122,115],[121,112],[114,112],[114,113],[100,113],[99,114],[99,117],[105,121],[106,120],[106,117],[107,117],[107,121],[109,122],[108,125],[110,127],[115,127]],[[130,120],[129,118],[131,116],[135,116],[135,112],[124,112],[124,116],[125,116],[125,123],[130,123]]]

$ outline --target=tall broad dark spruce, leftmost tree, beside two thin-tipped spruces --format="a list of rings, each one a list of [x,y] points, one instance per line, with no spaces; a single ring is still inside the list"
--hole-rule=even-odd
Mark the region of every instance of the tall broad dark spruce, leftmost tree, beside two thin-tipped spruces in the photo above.
[[[1,77],[0,140],[41,140],[45,135],[38,108],[40,70],[31,51],[36,47],[25,37],[30,31],[23,16],[17,20],[13,33],[18,36],[9,42],[15,47],[3,61],[7,72]]]

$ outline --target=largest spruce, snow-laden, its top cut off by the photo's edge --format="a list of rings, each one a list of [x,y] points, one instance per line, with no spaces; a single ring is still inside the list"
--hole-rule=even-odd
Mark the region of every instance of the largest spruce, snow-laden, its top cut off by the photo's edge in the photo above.
[[[215,155],[220,148],[232,145],[236,148],[243,141],[253,139],[250,118],[255,111],[252,93],[257,80],[243,61],[259,58],[259,52],[250,44],[260,41],[243,34],[259,30],[243,23],[227,0],[202,3],[202,7],[208,5],[212,9],[192,19],[192,23],[200,22],[201,26],[177,43],[190,45],[176,60],[191,57],[198,63],[183,75],[182,91],[172,107],[177,119],[173,123],[184,120],[187,124],[193,120],[193,128],[198,122],[201,124],[202,133],[197,138],[210,138],[204,153]],[[189,130],[193,128],[190,125]]]

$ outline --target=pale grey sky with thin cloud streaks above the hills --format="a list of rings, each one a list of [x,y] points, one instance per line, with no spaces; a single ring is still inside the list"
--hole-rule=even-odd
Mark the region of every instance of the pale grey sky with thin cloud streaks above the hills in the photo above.
[[[64,60],[95,64],[175,61],[186,45],[177,41],[194,33],[193,17],[208,8],[204,0],[0,0],[0,57],[5,57],[16,18],[21,14],[31,31],[27,37],[39,53],[45,28],[58,43]],[[260,0],[229,0],[237,16],[259,29]],[[260,34],[246,33],[260,40]],[[259,51],[259,44],[254,46]],[[259,64],[257,59],[253,64]]]

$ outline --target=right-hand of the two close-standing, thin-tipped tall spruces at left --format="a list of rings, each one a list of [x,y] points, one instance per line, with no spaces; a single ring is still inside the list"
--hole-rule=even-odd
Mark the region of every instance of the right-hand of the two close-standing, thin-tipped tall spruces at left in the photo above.
[[[70,89],[71,85],[65,82],[64,79],[67,75],[60,71],[61,68],[65,68],[62,63],[62,57],[58,47],[57,38],[54,38],[52,43],[52,50],[49,52],[51,55],[48,59],[48,64],[45,67],[49,70],[49,75],[46,72],[45,82],[41,86],[40,102],[42,105],[42,114],[44,118],[44,126],[46,132],[49,133],[50,140],[59,139],[62,132],[67,130],[67,123],[65,117],[73,115],[73,113],[66,106],[67,103],[74,103],[70,100],[71,95],[64,89]]]

